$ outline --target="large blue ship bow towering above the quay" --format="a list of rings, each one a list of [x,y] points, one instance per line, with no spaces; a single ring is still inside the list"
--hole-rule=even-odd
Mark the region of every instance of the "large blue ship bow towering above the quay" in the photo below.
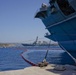
[[[50,6],[43,4],[35,15],[50,32],[45,37],[58,42],[70,54],[76,52],[76,0],[50,0],[49,3]]]

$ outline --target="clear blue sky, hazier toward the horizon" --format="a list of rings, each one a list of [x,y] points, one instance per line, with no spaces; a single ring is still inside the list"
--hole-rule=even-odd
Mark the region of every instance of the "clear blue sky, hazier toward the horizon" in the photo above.
[[[49,0],[0,0],[0,42],[25,42],[47,32],[34,15]]]

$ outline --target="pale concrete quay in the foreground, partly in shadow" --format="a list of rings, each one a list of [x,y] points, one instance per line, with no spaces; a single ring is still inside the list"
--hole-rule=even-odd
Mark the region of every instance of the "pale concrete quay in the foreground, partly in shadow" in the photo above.
[[[48,65],[47,67],[27,67],[21,70],[2,71],[0,75],[76,75],[76,66],[64,65],[66,70],[55,70],[56,65]]]

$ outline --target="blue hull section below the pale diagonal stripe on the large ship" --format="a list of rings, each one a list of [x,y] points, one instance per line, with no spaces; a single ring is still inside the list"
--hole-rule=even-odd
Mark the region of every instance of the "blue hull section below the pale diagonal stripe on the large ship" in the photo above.
[[[66,50],[76,51],[76,17],[47,28],[51,35],[46,36],[58,41]]]

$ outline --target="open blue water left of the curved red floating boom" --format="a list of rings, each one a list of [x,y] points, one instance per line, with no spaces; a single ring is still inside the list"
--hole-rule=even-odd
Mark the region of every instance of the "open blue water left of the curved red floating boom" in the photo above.
[[[14,48],[0,48],[0,71],[23,69],[30,66],[20,54],[24,50]]]

